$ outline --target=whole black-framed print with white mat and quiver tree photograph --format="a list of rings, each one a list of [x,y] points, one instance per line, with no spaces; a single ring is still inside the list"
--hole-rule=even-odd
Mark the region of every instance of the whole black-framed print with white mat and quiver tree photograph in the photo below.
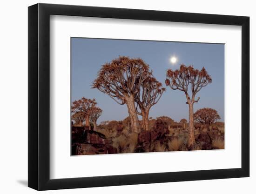
[[[28,187],[249,176],[249,17],[28,7]]]

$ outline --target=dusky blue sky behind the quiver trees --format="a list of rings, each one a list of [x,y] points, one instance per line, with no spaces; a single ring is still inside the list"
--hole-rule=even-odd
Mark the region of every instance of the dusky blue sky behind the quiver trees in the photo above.
[[[148,63],[155,78],[164,87],[168,68],[179,68],[181,63],[198,69],[205,67],[213,81],[196,95],[200,100],[194,104],[194,112],[203,107],[214,108],[224,121],[224,44],[71,38],[71,100],[82,96],[95,98],[98,107],[103,110],[98,123],[123,120],[128,116],[126,105],[119,105],[107,94],[91,89],[101,65],[119,56],[140,57]],[[172,56],[178,60],[175,65],[170,63]],[[175,121],[182,118],[188,120],[189,107],[184,92],[167,87],[149,112],[149,117],[153,118],[162,115]]]

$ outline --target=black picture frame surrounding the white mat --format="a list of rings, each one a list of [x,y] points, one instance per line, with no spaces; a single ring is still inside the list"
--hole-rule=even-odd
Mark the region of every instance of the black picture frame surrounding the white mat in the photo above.
[[[50,175],[50,15],[242,26],[242,167],[152,174],[53,179]],[[102,187],[249,176],[249,17],[107,7],[36,4],[28,7],[28,187]]]

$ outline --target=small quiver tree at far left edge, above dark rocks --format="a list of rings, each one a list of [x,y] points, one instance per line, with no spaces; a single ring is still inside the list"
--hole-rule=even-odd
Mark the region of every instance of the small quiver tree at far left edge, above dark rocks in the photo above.
[[[84,115],[85,118],[85,126],[91,129],[90,125],[90,109],[97,104],[96,100],[87,99],[82,97],[80,100],[75,100],[72,103],[71,111],[72,113],[80,113]]]

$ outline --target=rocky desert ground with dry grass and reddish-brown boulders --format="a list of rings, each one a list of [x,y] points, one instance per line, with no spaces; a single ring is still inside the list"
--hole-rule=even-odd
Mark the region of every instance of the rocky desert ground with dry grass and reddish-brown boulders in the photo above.
[[[141,123],[141,120],[140,120]],[[79,124],[81,125],[81,124]],[[149,119],[149,130],[132,132],[129,117],[103,121],[94,130],[72,125],[72,155],[124,154],[224,149],[224,123],[194,123],[195,145],[188,146],[189,124],[167,116]]]

